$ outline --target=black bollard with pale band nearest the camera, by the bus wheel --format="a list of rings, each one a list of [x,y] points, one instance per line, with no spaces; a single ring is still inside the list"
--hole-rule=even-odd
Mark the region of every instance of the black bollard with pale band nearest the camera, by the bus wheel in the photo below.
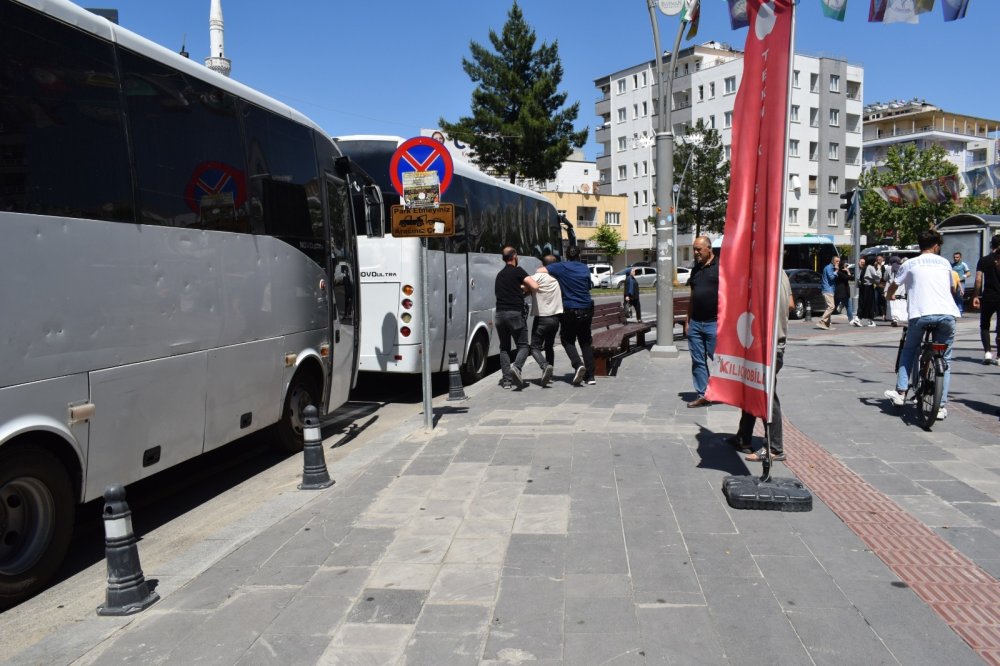
[[[149,589],[139,548],[132,533],[132,512],[125,501],[125,487],[120,484],[104,489],[104,550],[108,561],[106,602],[97,607],[98,615],[132,615],[156,603],[160,595]]]

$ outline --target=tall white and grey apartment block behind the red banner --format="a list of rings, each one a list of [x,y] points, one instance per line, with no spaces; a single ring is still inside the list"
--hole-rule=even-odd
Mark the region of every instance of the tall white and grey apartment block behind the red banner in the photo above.
[[[743,74],[743,53],[706,42],[664,54],[674,73],[671,124],[675,141],[701,119],[719,130],[729,158],[733,108]],[[861,175],[864,70],[846,60],[796,53],[788,143],[785,233],[826,234],[849,242],[840,194]],[[628,247],[652,247],[655,227],[655,145],[658,123],[655,62],[640,63],[594,81],[600,91],[596,140],[600,191],[629,201]],[[680,178],[679,174],[675,175]],[[681,184],[683,187],[683,184]],[[678,261],[688,263],[690,235],[678,237]]]

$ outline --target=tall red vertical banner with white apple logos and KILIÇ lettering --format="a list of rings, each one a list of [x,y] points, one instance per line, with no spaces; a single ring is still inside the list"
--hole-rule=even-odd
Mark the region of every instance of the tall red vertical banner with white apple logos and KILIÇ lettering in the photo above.
[[[781,270],[793,0],[749,0],[733,110],[732,175],[719,259],[719,319],[706,397],[770,416]]]

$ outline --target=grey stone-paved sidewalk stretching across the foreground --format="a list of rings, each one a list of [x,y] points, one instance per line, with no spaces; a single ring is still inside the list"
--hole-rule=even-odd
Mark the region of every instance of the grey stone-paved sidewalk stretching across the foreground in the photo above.
[[[686,407],[683,340],[596,386],[572,387],[560,354],[551,387],[530,364],[523,391],[466,387],[432,433],[413,419],[332,466],[333,487],[146,571],[163,598],[145,612],[81,617],[4,663],[996,663],[1000,368],[962,320],[949,416],[924,432],[882,398],[899,329],[836,319],[791,324],[774,472],[840,466],[823,469],[869,515],[928,530],[912,548],[883,548],[826,486],[809,513],[731,509],[723,478],[759,465],[724,442],[737,410]],[[893,559],[907,548],[971,566],[955,588],[981,601],[936,603],[927,569]]]

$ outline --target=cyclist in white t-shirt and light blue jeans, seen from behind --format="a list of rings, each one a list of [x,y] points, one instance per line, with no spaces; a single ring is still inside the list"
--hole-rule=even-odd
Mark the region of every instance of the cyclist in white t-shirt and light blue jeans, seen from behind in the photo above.
[[[909,323],[896,373],[896,389],[886,391],[885,397],[897,407],[902,406],[903,396],[909,385],[908,374],[920,349],[924,329],[934,326],[934,342],[948,345],[944,352],[944,389],[941,392],[938,420],[948,417],[945,403],[948,402],[948,384],[951,381],[951,347],[955,342],[955,318],[959,316],[952,286],[951,263],[940,256],[941,242],[941,234],[934,229],[921,231],[917,235],[920,255],[900,265],[899,272],[892,278],[886,293],[886,298],[892,300],[900,286],[906,288]]]

